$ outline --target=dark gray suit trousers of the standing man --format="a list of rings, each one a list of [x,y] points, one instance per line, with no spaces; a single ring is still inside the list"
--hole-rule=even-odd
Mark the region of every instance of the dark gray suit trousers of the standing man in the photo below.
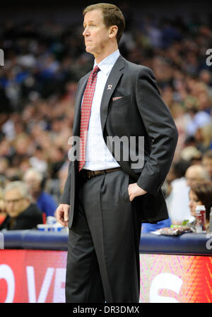
[[[141,210],[122,169],[81,185],[69,229],[66,302],[139,302]]]

